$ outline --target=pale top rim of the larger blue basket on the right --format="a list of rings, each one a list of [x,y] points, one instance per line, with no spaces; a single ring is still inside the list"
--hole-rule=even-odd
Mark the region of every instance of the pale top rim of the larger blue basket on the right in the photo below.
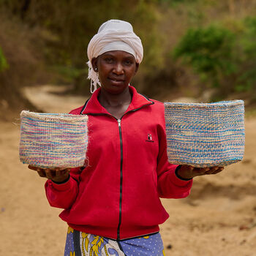
[[[236,106],[244,106],[244,100],[235,99],[235,100],[227,100],[221,102],[202,102],[202,103],[186,103],[186,102],[164,102],[165,108],[170,107],[189,107],[189,108],[227,108],[227,107],[236,107]]]

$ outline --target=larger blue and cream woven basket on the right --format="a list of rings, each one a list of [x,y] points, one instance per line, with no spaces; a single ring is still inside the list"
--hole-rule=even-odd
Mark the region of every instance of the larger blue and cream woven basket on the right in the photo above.
[[[244,156],[244,102],[165,102],[170,163],[225,166]]]

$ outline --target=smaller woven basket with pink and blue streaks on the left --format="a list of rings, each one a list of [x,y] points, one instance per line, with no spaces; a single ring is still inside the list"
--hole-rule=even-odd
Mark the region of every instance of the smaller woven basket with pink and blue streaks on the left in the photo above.
[[[84,164],[87,116],[22,111],[20,118],[21,162],[42,168]]]

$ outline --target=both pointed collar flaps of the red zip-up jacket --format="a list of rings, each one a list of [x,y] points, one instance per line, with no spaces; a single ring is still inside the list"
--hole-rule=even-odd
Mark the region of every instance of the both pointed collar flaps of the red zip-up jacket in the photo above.
[[[109,114],[108,111],[99,103],[98,95],[100,90],[101,88],[97,89],[97,91],[91,95],[91,98],[86,101],[85,105],[83,105],[83,109],[81,110],[80,114]],[[142,94],[138,94],[134,87],[129,86],[129,91],[132,94],[132,102],[127,108],[126,113],[129,111],[138,110],[147,105],[154,104],[154,102],[152,102],[147,97],[143,96]]]

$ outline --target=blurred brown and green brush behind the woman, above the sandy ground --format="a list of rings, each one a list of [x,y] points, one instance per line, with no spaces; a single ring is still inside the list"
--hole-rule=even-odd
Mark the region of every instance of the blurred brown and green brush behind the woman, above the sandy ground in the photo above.
[[[256,105],[255,0],[0,0],[1,112],[31,108],[23,86],[89,94],[87,45],[111,18],[132,23],[142,39],[132,83],[141,93]]]

